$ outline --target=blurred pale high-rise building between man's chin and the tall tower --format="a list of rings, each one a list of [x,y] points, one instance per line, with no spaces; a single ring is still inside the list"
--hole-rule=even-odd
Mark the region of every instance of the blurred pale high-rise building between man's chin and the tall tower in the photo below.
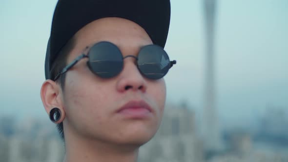
[[[166,107],[157,134],[140,149],[139,162],[203,162],[195,113],[187,107]]]

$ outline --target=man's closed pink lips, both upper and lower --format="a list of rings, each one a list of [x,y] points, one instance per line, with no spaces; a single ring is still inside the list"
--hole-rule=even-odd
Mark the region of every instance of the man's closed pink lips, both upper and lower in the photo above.
[[[129,101],[117,113],[131,118],[144,118],[151,113],[152,108],[145,101]]]

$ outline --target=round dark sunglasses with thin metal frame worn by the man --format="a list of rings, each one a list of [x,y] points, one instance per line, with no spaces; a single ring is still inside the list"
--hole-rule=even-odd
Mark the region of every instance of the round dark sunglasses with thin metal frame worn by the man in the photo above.
[[[128,57],[135,58],[140,73],[145,78],[152,80],[163,78],[173,64],[176,64],[175,60],[169,60],[167,53],[162,47],[155,44],[143,46],[137,57],[133,55],[123,57],[120,49],[115,44],[101,41],[94,44],[87,54],[83,53],[64,67],[54,81],[83,58],[89,59],[87,65],[95,75],[101,78],[113,78],[122,71],[123,60]]]

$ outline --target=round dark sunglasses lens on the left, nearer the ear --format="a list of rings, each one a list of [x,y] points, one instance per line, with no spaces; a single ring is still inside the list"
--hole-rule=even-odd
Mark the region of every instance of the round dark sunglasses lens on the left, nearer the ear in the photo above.
[[[101,78],[117,76],[123,68],[123,57],[119,48],[106,41],[96,43],[89,50],[88,66]]]

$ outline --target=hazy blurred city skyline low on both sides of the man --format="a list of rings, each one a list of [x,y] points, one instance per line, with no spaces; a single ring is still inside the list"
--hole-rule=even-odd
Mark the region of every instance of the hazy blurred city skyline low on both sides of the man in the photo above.
[[[194,111],[186,105],[166,108],[156,135],[140,148],[139,162],[288,162],[287,111],[270,109],[253,129],[222,131],[221,147],[211,151]],[[55,124],[0,117],[1,162],[62,162],[63,156]]]

